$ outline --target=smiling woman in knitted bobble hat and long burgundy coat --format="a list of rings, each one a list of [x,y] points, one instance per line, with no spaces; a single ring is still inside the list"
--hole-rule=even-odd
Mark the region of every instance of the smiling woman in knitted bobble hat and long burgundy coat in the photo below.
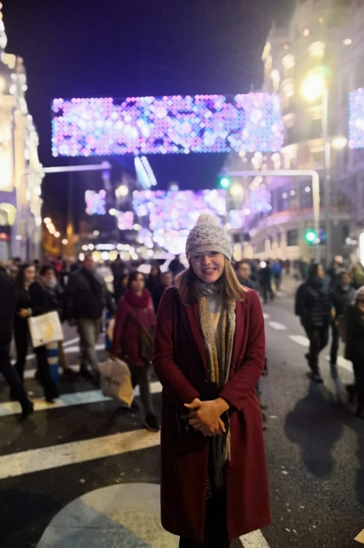
[[[163,385],[161,521],[180,548],[227,548],[270,523],[261,410],[261,303],[231,268],[211,216],[187,239],[190,268],[159,305],[153,351]]]

